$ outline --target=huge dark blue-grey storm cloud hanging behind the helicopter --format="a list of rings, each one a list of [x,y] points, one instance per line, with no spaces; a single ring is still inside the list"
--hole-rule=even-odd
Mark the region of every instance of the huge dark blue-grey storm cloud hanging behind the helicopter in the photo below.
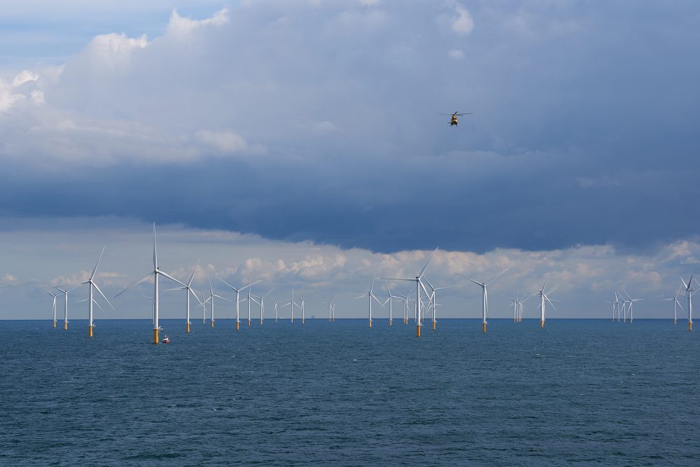
[[[260,2],[93,43],[0,115],[0,209],[373,251],[698,232],[699,6],[463,2],[468,31],[459,5]]]

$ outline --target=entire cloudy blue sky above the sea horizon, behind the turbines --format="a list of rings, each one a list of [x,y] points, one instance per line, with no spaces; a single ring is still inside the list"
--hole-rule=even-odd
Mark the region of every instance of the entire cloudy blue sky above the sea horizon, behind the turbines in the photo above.
[[[610,316],[623,286],[671,316],[659,299],[700,272],[699,20],[693,1],[4,1],[0,319],[48,316],[41,289],[103,246],[113,297],[151,267],[154,221],[176,277],[201,260],[199,288],[261,279],[318,315],[337,295],[365,316],[373,274],[440,247],[443,316],[481,313],[456,273],[505,267],[493,317],[547,277],[550,317]],[[147,292],[98,319],[148,318]]]

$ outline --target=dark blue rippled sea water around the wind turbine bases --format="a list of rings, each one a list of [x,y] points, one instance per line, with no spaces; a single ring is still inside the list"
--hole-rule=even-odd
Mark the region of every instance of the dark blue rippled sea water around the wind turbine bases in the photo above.
[[[0,322],[0,465],[699,465],[700,334],[636,320]]]

